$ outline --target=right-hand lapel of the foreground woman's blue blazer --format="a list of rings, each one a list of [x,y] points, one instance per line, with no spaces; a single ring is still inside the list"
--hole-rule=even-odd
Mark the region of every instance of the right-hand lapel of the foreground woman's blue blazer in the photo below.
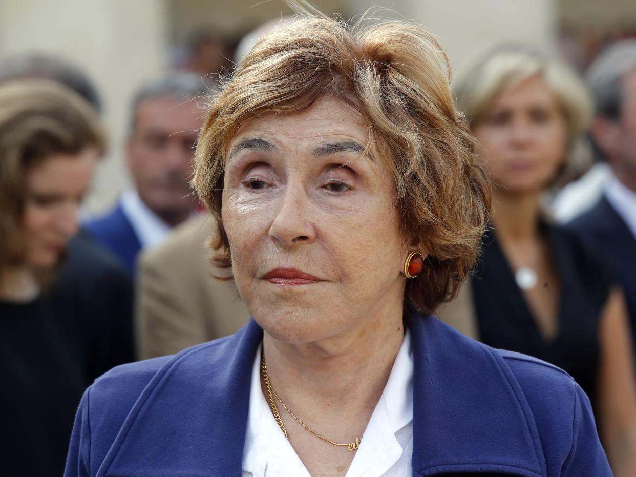
[[[435,317],[411,329],[413,472],[545,475],[534,418],[503,359]]]

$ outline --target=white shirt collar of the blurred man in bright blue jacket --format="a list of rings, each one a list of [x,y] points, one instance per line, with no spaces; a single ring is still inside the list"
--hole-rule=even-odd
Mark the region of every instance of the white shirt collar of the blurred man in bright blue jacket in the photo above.
[[[123,213],[130,221],[132,230],[141,242],[142,249],[160,244],[170,233],[170,226],[144,204],[137,190],[123,191],[120,204]]]

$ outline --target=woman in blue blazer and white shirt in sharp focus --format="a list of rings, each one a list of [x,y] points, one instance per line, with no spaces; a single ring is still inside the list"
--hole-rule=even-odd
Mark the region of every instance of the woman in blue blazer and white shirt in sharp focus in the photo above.
[[[258,41],[194,179],[253,320],[97,380],[67,476],[610,475],[572,378],[429,315],[487,221],[448,72],[399,22],[308,15]]]

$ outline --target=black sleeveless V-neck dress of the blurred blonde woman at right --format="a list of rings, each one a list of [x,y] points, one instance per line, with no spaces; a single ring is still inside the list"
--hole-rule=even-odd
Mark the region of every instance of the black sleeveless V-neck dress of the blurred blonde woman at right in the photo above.
[[[567,371],[595,406],[601,310],[612,286],[607,268],[571,233],[541,223],[560,281],[558,330],[544,339],[493,230],[483,238],[473,279],[480,340],[543,359]],[[543,286],[539,283],[537,286]]]

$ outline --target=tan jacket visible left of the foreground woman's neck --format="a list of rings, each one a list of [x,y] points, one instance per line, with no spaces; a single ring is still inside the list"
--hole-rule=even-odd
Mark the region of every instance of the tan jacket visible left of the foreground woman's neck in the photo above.
[[[208,259],[215,229],[207,215],[190,219],[142,254],[135,303],[139,359],[232,335],[249,320],[234,282],[212,277],[228,274]]]

